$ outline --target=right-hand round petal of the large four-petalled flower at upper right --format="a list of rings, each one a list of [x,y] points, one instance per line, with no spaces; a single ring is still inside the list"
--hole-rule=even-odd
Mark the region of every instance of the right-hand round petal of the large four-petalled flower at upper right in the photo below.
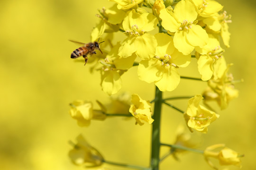
[[[200,46],[201,48],[209,41],[206,31],[201,26],[195,24],[192,24],[192,28],[188,30],[186,38],[192,46]]]

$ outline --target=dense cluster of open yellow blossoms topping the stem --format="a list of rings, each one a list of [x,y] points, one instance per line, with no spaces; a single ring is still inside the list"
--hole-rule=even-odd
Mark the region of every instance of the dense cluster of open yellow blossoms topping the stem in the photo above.
[[[219,38],[229,47],[230,16],[214,0],[110,0],[102,8],[91,40],[105,40],[99,56],[102,90],[117,93],[121,76],[138,65],[139,79],[163,92],[173,91],[180,82],[179,68],[187,67],[194,55],[204,81],[218,79],[226,67]],[[151,11],[146,8],[152,8]],[[160,33],[156,33],[158,27]],[[115,42],[122,32],[125,39]]]

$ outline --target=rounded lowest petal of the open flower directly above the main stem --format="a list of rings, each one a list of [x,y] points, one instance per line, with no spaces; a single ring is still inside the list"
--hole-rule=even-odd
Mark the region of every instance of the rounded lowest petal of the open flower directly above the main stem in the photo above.
[[[165,67],[163,77],[155,82],[155,85],[162,92],[173,91],[180,83],[180,74],[173,66]]]

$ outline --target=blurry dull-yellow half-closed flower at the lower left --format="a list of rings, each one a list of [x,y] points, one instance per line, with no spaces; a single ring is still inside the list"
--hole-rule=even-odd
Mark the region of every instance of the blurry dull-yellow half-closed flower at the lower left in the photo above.
[[[88,144],[82,135],[77,136],[76,140],[77,144],[68,153],[71,161],[76,165],[84,165],[85,167],[101,166],[104,160],[101,153]]]

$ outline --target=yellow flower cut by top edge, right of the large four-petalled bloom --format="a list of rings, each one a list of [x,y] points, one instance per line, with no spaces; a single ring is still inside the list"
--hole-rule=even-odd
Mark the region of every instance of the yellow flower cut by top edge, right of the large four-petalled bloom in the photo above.
[[[197,12],[201,17],[218,16],[218,12],[223,8],[215,0],[192,0],[197,7]]]

